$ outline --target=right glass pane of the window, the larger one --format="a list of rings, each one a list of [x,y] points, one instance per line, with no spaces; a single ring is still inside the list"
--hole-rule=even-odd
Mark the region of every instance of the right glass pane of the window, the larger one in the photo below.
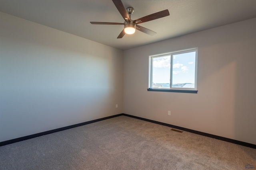
[[[172,88],[195,88],[196,52],[172,57]]]

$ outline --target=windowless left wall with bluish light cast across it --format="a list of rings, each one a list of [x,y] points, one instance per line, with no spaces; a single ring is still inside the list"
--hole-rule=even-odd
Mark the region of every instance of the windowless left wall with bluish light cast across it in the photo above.
[[[0,13],[0,142],[122,113],[122,63],[121,50]]]

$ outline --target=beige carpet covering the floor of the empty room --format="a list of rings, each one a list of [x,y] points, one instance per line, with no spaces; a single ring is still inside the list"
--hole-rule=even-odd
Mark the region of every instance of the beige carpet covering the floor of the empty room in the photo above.
[[[0,147],[1,170],[244,170],[256,149],[126,116]]]

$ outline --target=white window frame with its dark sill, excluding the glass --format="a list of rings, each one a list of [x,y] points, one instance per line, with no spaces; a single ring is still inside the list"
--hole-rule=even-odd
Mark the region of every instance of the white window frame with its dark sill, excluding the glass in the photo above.
[[[172,63],[173,63],[173,55],[178,55],[182,53],[190,53],[190,52],[196,52],[196,59],[195,59],[195,87],[194,88],[174,88],[172,87]],[[156,57],[164,57],[166,55],[170,55],[170,88],[152,88],[153,87],[153,59]],[[191,48],[191,49],[183,49],[179,51],[172,51],[168,53],[161,53],[156,55],[150,55],[149,56],[149,70],[148,70],[148,91],[163,91],[163,92],[185,92],[185,93],[197,93],[197,64],[198,64],[198,48]]]

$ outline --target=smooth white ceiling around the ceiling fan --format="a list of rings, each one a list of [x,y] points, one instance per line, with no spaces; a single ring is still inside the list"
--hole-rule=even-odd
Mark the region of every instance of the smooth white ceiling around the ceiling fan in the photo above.
[[[0,11],[71,33],[98,43],[126,50],[256,18],[256,0],[122,0],[134,8],[132,20],[168,9],[170,16],[140,25],[157,32],[151,36],[140,31],[116,37],[123,25],[92,25],[90,21],[124,20],[112,0],[0,0]]]

